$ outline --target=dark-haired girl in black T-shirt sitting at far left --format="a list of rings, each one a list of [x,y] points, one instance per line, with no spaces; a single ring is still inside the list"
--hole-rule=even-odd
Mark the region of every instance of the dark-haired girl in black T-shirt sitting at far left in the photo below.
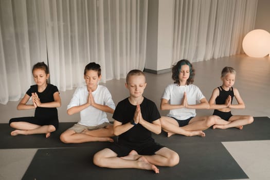
[[[61,99],[57,86],[48,84],[48,67],[44,62],[35,64],[32,68],[35,85],[30,86],[23,99],[17,105],[17,110],[35,109],[34,117],[20,117],[9,120],[10,127],[16,130],[10,134],[45,134],[46,137],[58,128],[58,112]],[[32,98],[33,104],[26,104]]]

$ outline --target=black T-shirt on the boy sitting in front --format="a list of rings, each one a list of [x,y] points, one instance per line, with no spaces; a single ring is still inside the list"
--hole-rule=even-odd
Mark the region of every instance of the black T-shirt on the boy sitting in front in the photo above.
[[[113,118],[122,122],[122,124],[129,123],[130,120],[133,119],[135,111],[136,105],[132,105],[129,98],[126,98],[117,104]],[[152,122],[160,118],[156,104],[147,98],[143,98],[143,101],[140,104],[140,111],[142,118],[148,122]],[[136,145],[147,143],[149,141],[154,141],[151,131],[143,127],[141,124],[134,125],[134,127],[129,131],[120,134],[118,137],[119,143],[127,145]]]

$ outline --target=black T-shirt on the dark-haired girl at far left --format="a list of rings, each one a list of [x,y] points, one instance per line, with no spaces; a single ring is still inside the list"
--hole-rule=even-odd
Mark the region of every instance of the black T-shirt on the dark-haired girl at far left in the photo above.
[[[32,96],[32,93],[37,93],[40,102],[53,102],[55,99],[53,98],[53,94],[55,92],[59,92],[57,86],[52,84],[47,84],[47,87],[45,90],[41,93],[38,92],[38,85],[31,85],[26,94],[28,96]],[[47,119],[47,118],[57,118],[58,119],[58,113],[56,107],[37,107],[34,111],[34,117],[41,118],[41,119]]]

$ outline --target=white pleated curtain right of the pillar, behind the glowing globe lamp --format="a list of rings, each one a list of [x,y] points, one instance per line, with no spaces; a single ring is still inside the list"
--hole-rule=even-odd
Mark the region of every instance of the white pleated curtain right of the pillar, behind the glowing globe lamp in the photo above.
[[[242,40],[255,26],[257,3],[257,0],[174,0],[172,63],[242,52]]]

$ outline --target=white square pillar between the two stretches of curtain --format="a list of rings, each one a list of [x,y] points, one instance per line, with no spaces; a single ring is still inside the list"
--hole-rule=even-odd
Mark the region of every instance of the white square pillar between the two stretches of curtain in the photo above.
[[[146,69],[157,73],[172,62],[173,0],[148,1]]]

